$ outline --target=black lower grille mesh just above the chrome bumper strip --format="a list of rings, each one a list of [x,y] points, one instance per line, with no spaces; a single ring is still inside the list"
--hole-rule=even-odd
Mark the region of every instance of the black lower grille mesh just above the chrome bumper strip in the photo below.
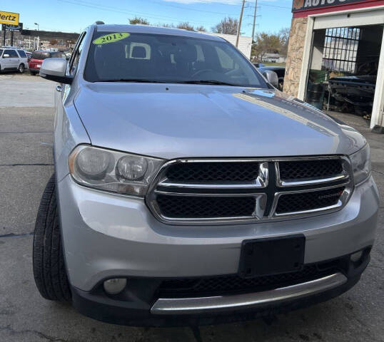
[[[318,279],[325,274],[330,274],[335,271],[335,263],[330,264],[326,270],[321,270],[316,264],[303,266],[300,271],[273,274],[271,276],[258,276],[252,279],[243,279],[237,274],[230,276],[215,276],[201,279],[173,279],[163,281],[160,286],[162,295],[167,292],[172,294],[179,293],[206,293],[226,291],[255,291],[261,287],[278,288],[288,284],[297,284],[304,281]]]

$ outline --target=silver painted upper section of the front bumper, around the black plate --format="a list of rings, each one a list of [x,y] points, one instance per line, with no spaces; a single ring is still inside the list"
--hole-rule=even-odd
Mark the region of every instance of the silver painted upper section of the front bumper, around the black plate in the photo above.
[[[90,291],[116,276],[236,274],[241,243],[255,237],[305,235],[305,264],[373,245],[378,191],[373,178],[331,214],[261,224],[176,226],[158,222],[143,199],[58,184],[66,266],[72,286]]]

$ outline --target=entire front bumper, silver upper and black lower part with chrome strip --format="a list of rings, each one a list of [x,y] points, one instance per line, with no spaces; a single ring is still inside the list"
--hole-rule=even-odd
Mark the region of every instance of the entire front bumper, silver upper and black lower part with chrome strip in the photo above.
[[[338,296],[360,279],[369,262],[379,201],[370,177],[355,187],[348,204],[338,212],[259,224],[176,226],[158,222],[143,199],[87,189],[69,175],[58,183],[58,190],[64,254],[76,309],[102,321],[150,326],[253,318]],[[236,274],[244,239],[298,233],[305,235],[305,265],[340,258],[348,264],[353,252],[368,252],[360,266],[343,266],[337,284],[325,284],[304,295],[293,289],[293,296],[283,301],[276,301],[275,291],[261,302],[253,297],[249,306],[241,305],[240,298],[226,297],[224,304],[214,299],[216,307],[208,311],[190,311],[183,307],[185,302],[181,304],[185,312],[158,305],[161,297],[156,297],[156,288],[162,279]],[[103,281],[116,277],[128,277],[137,291],[128,291],[122,298],[106,296]],[[156,310],[156,303],[161,310]]]

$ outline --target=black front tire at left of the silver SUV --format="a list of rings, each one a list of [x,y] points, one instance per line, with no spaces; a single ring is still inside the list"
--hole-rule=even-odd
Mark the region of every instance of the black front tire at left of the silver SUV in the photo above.
[[[69,289],[61,244],[56,181],[52,175],[41,197],[34,232],[34,278],[41,296],[51,301],[69,301]]]

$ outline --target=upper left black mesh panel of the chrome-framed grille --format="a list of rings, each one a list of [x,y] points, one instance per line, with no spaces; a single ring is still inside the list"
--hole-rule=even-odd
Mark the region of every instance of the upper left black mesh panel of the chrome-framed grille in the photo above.
[[[171,165],[171,182],[251,181],[258,177],[258,162],[191,162]]]

